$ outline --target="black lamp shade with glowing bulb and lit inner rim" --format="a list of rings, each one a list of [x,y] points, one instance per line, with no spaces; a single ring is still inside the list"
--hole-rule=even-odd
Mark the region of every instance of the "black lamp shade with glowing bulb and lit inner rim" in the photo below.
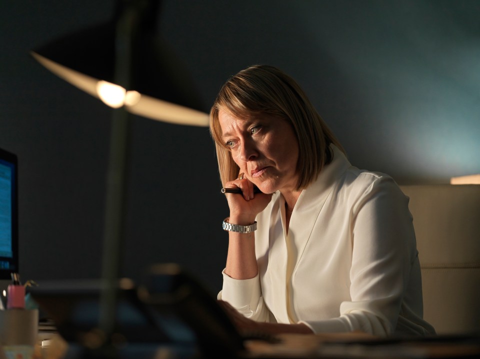
[[[117,9],[118,15],[111,21],[58,38],[31,55],[57,76],[111,107],[124,106],[132,114],[154,120],[207,126],[208,115],[202,111],[187,71],[154,33],[157,6],[134,9],[137,16],[129,22],[128,83],[118,83],[115,78],[119,72],[118,17],[124,8]],[[110,94],[119,97],[109,100]]]

